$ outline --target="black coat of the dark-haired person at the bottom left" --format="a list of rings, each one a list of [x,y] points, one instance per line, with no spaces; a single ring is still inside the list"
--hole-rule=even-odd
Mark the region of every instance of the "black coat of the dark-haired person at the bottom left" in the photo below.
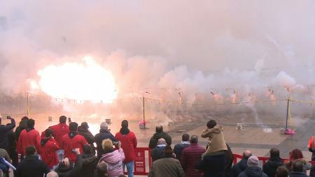
[[[38,160],[37,155],[29,155],[25,157],[25,160],[18,164],[16,171],[14,172],[15,177],[43,177],[43,174],[48,174],[50,170],[47,165]]]

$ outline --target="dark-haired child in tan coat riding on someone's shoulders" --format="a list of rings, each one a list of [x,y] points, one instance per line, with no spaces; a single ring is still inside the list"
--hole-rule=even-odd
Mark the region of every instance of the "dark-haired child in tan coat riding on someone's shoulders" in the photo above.
[[[217,125],[216,121],[210,120],[207,122],[207,129],[202,131],[201,137],[209,138],[207,151],[204,155],[221,155],[228,151],[223,136],[223,128],[221,125]]]

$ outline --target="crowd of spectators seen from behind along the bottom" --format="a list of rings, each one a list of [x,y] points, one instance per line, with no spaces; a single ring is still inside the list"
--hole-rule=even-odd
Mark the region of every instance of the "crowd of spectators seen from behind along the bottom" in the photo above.
[[[23,117],[15,128],[11,123],[1,125],[0,120],[0,177],[71,177],[71,176],[134,176],[137,138],[129,129],[128,121],[121,123],[120,131],[111,133],[109,125],[100,124],[99,133],[90,132],[86,122],[66,123],[60,116],[57,125],[50,126],[41,134],[35,130],[35,121]],[[15,128],[15,132],[13,132]],[[183,134],[179,144],[172,148],[172,137],[155,128],[148,141],[152,164],[149,177],[306,177],[315,176],[315,167],[305,160],[300,149],[290,151],[283,162],[279,149],[269,151],[264,164],[251,151],[245,150],[243,158],[232,165],[233,154],[225,142],[223,127],[211,120],[200,137],[209,139],[206,147],[198,144],[198,135]],[[96,146],[94,146],[96,144]],[[309,141],[312,160],[315,158],[315,138]]]

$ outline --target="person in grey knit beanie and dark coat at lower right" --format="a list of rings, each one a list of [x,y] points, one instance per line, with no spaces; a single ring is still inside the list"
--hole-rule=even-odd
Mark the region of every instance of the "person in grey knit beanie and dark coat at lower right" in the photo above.
[[[267,177],[259,166],[259,160],[256,156],[251,156],[247,160],[247,169],[239,174],[239,177]]]

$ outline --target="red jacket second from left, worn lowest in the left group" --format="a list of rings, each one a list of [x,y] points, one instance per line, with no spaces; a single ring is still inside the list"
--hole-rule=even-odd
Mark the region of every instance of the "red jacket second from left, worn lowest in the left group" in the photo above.
[[[48,168],[54,167],[58,164],[58,157],[56,151],[59,149],[59,145],[55,139],[41,139],[41,158]]]

